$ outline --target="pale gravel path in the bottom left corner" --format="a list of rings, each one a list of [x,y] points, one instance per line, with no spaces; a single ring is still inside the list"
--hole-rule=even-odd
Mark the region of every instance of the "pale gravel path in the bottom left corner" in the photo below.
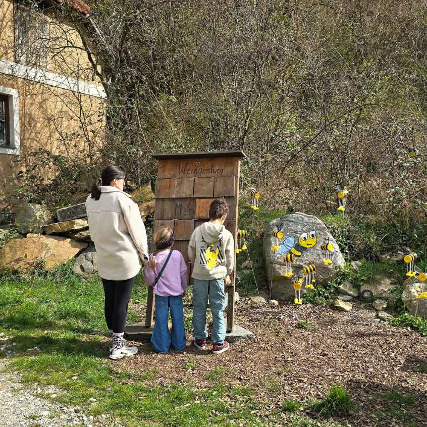
[[[6,371],[0,362],[0,425],[13,427],[101,427],[119,426],[109,417],[86,416],[82,408],[63,406],[42,396],[55,398],[55,387],[31,387],[22,384],[18,372]]]

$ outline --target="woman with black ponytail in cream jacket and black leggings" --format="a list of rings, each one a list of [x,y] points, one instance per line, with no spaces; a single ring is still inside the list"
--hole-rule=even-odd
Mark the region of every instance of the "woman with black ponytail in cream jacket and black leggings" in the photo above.
[[[90,238],[105,294],[105,320],[113,332],[111,359],[138,352],[123,339],[132,286],[148,259],[147,235],[138,205],[123,192],[125,171],[107,166],[86,199]]]

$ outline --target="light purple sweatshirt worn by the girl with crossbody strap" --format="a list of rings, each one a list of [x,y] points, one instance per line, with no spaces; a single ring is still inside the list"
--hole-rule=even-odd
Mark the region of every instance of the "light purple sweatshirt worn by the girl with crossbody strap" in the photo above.
[[[169,250],[165,249],[155,255],[155,268],[150,268],[153,254],[148,258],[148,263],[144,268],[144,280],[149,286],[153,286],[154,279],[162,270],[163,264],[169,255]],[[153,292],[159,296],[176,296],[187,292],[187,264],[179,250],[173,250],[168,264],[162,273]]]

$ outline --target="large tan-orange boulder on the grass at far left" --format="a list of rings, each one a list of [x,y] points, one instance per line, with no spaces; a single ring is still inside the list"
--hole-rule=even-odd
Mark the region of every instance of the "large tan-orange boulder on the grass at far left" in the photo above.
[[[28,234],[27,238],[10,240],[0,250],[0,268],[31,271],[39,262],[47,270],[65,264],[74,258],[87,243],[75,242],[60,236]]]

